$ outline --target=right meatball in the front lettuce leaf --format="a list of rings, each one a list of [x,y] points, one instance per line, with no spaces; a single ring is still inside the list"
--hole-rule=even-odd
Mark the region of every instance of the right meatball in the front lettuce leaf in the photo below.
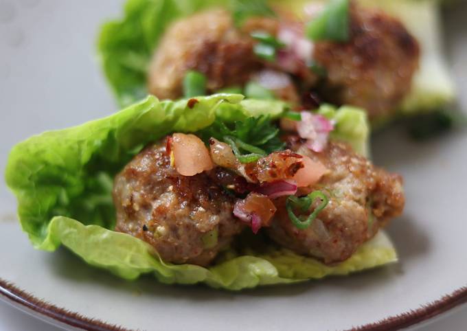
[[[372,238],[390,218],[399,216],[405,204],[402,179],[374,167],[343,143],[331,142],[316,153],[301,144],[293,150],[319,161],[328,168],[313,190],[329,198],[326,208],[305,230],[295,227],[285,210],[285,200],[276,201],[277,214],[267,233],[278,244],[301,254],[341,262]],[[308,194],[308,192],[302,192]],[[317,207],[320,201],[315,201]]]

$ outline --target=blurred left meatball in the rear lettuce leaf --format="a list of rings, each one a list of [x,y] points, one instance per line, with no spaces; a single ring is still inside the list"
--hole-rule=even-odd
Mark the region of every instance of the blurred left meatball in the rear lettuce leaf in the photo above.
[[[251,73],[263,67],[255,56],[251,30],[275,34],[272,19],[251,19],[238,30],[226,10],[209,10],[178,21],[166,32],[150,65],[150,93],[161,99],[182,95],[186,71],[195,69],[207,76],[207,89],[243,85]]]

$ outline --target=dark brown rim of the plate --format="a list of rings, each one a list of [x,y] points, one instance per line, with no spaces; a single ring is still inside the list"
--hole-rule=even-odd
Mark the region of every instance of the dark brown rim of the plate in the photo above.
[[[3,295],[10,301],[14,301],[21,306],[34,310],[41,315],[45,315],[56,321],[60,321],[74,328],[81,328],[90,331],[129,331],[122,326],[115,326],[99,319],[90,319],[82,316],[78,312],[71,312],[65,308],[59,308],[46,301],[42,301],[30,295],[25,291],[14,286],[10,282],[0,278],[0,295]],[[455,290],[450,295],[445,295],[441,299],[433,301],[429,304],[420,306],[415,310],[403,312],[400,315],[387,317],[375,323],[365,324],[350,329],[350,331],[376,331],[376,330],[398,330],[408,328],[414,324],[431,319],[442,314],[456,306],[467,303],[467,286]]]

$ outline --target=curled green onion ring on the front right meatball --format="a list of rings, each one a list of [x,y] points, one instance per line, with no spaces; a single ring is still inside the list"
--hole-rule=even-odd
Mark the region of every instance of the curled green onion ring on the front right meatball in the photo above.
[[[321,204],[304,220],[301,220],[297,216],[295,216],[293,212],[293,208],[300,209],[301,212],[308,212],[308,209],[310,209],[312,202],[316,199],[319,198],[321,200]],[[329,203],[329,199],[321,191],[315,191],[308,196],[304,196],[301,198],[298,198],[297,196],[289,196],[286,201],[286,210],[288,217],[291,219],[293,225],[297,227],[297,229],[308,229],[310,225],[312,224],[313,220],[317,218],[318,214],[326,208],[326,206]]]

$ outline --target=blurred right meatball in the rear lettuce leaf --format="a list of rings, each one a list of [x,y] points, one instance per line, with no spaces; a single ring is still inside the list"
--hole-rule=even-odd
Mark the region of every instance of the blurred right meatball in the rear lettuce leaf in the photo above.
[[[315,44],[313,58],[328,71],[321,93],[366,109],[372,120],[392,115],[418,69],[418,42],[397,19],[355,3],[350,36],[349,43]]]

